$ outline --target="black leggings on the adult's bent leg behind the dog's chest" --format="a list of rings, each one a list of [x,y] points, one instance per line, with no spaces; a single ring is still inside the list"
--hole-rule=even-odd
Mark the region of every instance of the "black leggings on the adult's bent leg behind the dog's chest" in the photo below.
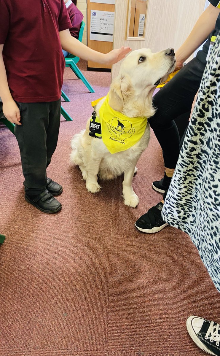
[[[190,111],[206,66],[206,53],[201,62],[197,57],[187,63],[175,77],[153,97],[156,113],[149,123],[163,150],[164,165],[175,168],[179,157],[179,132],[174,122],[179,115]]]

